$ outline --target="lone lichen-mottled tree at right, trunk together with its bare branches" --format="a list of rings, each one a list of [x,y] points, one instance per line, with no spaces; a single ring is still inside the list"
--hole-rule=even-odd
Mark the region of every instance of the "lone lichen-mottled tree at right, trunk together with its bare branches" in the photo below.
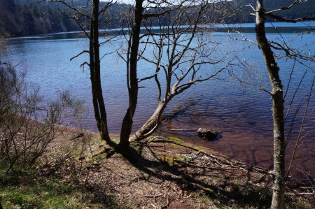
[[[279,75],[279,67],[277,66],[274,50],[283,50],[286,52],[287,57],[299,56],[294,52],[286,48],[286,45],[280,45],[272,41],[268,41],[265,33],[265,19],[266,17],[273,18],[274,20],[282,22],[298,22],[305,20],[314,20],[314,17],[301,17],[294,20],[288,20],[279,15],[276,12],[281,10],[288,10],[297,3],[302,3],[302,1],[295,0],[292,3],[283,8],[266,11],[264,8],[263,0],[256,1],[255,10],[255,22],[256,22],[256,39],[258,41],[258,47],[262,52],[265,59],[265,66],[269,75],[270,85],[272,90],[269,94],[272,96],[272,113],[274,120],[274,186],[272,194],[272,205],[271,208],[284,208],[284,196],[285,196],[285,137],[284,137],[284,99],[283,99],[283,84]],[[313,57],[314,59],[314,57]]]

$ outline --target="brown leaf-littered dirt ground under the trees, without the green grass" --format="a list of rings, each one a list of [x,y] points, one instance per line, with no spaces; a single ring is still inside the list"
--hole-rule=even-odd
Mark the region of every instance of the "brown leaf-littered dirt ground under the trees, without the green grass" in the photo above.
[[[69,129],[50,145],[41,173],[92,192],[90,201],[104,208],[269,208],[272,175],[264,168],[172,137],[132,143],[131,158],[107,158],[106,147],[97,134]],[[312,207],[294,191],[290,208]]]

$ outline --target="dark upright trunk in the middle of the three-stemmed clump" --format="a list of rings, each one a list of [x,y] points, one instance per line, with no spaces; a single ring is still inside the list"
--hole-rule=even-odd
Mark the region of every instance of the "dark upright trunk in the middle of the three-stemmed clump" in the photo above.
[[[132,131],[134,112],[136,111],[138,101],[138,79],[137,79],[137,59],[140,41],[140,27],[143,19],[143,0],[137,0],[134,8],[134,24],[132,26],[132,43],[130,48],[130,67],[128,71],[128,92],[129,107],[123,119],[120,132],[120,147],[127,147],[130,144],[129,137]]]

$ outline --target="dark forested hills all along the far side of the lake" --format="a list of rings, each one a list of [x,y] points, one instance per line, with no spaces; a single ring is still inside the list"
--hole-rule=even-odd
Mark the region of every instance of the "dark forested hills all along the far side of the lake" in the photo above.
[[[288,6],[291,1],[286,0],[266,0],[267,10]],[[71,1],[73,6],[85,5],[86,0]],[[253,11],[244,5],[251,3],[255,6],[255,0],[230,1],[225,6],[216,6],[208,16],[211,22],[253,22],[253,17],[249,15]],[[223,4],[223,3],[222,3]],[[235,4],[237,6],[235,6]],[[55,5],[55,4],[54,4]],[[228,6],[227,6],[228,5]],[[124,13],[130,8],[127,4],[117,3],[111,6],[108,16],[102,28],[115,28],[123,25]],[[228,17],[222,17],[225,11],[218,13],[217,9],[226,10],[230,13]],[[236,11],[231,12],[233,8]],[[309,0],[294,6],[290,10],[281,12],[281,16],[288,18],[311,17],[314,16],[315,0]],[[175,12],[176,13],[176,12]],[[193,14],[192,14],[193,15]],[[167,20],[164,20],[167,21]],[[272,20],[271,20],[272,21]],[[151,22],[158,24],[157,22]],[[183,23],[184,24],[184,23]],[[38,3],[38,0],[0,0],[0,31],[1,34],[10,36],[22,36],[29,34],[46,34],[60,31],[76,31],[78,25],[73,20],[64,17],[57,7],[47,6],[45,2]]]

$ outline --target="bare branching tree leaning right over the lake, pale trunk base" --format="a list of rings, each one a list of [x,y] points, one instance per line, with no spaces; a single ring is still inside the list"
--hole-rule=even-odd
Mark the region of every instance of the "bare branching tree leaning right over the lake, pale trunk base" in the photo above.
[[[150,27],[146,22],[146,31],[143,38],[144,50],[153,48],[155,53],[145,55],[144,50],[139,52],[139,58],[155,66],[155,73],[147,78],[139,79],[142,82],[154,78],[158,87],[158,107],[149,120],[139,129],[134,140],[141,140],[153,134],[160,126],[160,117],[174,96],[186,89],[215,78],[218,73],[226,69],[230,62],[224,53],[215,57],[214,52],[220,43],[209,39],[209,10],[214,9],[214,1],[182,1],[181,9],[167,11],[163,17],[158,17],[158,29]],[[220,2],[221,4],[223,1]],[[162,10],[162,9],[161,9]],[[193,15],[192,15],[193,14]],[[162,24],[163,18],[167,21]],[[164,21],[165,22],[165,21]],[[149,25],[148,25],[149,24]],[[187,27],[182,27],[187,24]],[[225,64],[223,64],[225,62]],[[164,79],[161,79],[165,78]]]

